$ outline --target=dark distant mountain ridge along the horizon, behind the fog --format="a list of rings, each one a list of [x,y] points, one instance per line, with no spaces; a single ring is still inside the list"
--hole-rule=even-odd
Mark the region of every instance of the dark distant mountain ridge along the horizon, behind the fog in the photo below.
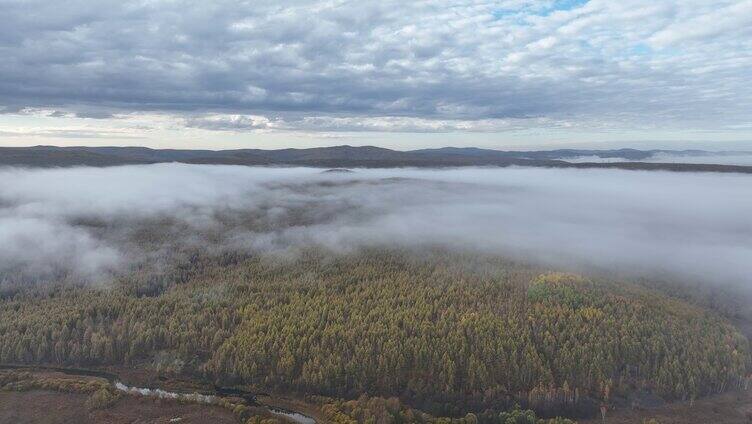
[[[374,146],[305,149],[180,150],[148,147],[0,147],[0,165],[27,167],[115,166],[180,162],[226,165],[294,165],[314,167],[453,167],[537,166],[556,168],[662,169],[752,173],[752,166],[640,162],[656,154],[725,155],[738,152],[704,150],[557,149],[503,151],[476,147],[443,147],[397,151]],[[745,154],[748,152],[745,152]],[[568,162],[575,158],[617,159],[612,162]],[[624,161],[618,161],[623,159]]]

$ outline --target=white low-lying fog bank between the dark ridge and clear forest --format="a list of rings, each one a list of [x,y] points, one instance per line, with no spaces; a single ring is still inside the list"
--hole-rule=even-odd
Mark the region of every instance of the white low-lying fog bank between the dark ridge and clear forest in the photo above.
[[[247,252],[442,246],[566,268],[746,283],[752,176],[183,164],[0,169],[5,275],[64,270],[95,278],[137,261],[139,249],[169,243]]]

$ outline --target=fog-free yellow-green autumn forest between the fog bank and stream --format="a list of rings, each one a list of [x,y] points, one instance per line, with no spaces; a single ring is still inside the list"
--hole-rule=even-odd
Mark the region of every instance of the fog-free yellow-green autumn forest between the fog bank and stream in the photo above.
[[[0,361],[397,396],[455,417],[515,403],[577,416],[635,389],[689,399],[748,383],[749,343],[717,315],[638,285],[536,275],[439,254],[194,255],[109,287],[7,296]]]

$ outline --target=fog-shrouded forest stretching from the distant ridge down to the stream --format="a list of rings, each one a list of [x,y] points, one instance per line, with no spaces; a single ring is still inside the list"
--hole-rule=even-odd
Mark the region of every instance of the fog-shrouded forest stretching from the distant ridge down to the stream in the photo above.
[[[744,176],[0,176],[0,366],[290,397],[337,423],[588,420],[752,383]],[[2,387],[70,386],[40,378]]]

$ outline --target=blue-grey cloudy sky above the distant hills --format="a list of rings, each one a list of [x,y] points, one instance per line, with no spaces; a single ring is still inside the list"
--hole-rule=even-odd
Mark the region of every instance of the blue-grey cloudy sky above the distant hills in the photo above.
[[[752,150],[752,0],[0,0],[0,146]]]

